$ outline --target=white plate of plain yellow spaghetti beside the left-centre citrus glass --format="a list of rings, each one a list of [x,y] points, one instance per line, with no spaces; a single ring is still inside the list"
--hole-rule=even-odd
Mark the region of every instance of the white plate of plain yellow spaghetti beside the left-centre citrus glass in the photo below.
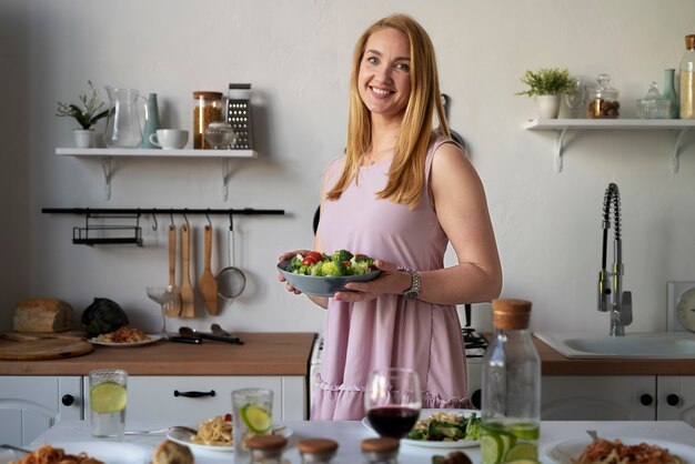
[[[272,433],[289,437],[292,435],[293,431],[285,426],[273,426]],[[198,424],[197,434],[180,428],[170,430],[167,433],[167,438],[190,446],[193,452],[234,452],[234,433],[231,414],[205,418]]]

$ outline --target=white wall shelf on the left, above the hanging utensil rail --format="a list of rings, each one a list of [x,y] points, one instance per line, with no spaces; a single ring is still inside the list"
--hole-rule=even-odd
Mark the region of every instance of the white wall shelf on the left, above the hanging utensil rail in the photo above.
[[[111,199],[111,178],[113,168],[111,165],[114,158],[160,158],[160,159],[219,159],[222,162],[222,200],[226,201],[230,179],[231,159],[254,159],[258,153],[253,150],[162,150],[162,149],[75,149],[57,148],[56,154],[74,158],[95,158],[101,161],[101,169],[104,176],[104,195]]]

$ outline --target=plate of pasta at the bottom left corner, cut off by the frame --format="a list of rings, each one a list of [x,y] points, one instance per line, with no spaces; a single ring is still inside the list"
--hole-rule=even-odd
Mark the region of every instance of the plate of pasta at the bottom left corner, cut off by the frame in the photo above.
[[[84,454],[91,461],[85,461]],[[59,457],[62,456],[62,457]],[[30,454],[20,456],[19,464],[49,463],[49,462],[94,462],[109,464],[145,464],[152,457],[152,450],[144,445],[123,442],[68,442],[43,443]]]

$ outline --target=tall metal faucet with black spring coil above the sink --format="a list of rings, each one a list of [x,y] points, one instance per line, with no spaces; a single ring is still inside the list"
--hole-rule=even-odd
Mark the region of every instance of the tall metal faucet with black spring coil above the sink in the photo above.
[[[613,241],[613,268],[606,269],[611,205],[615,223]],[[621,193],[617,185],[608,184],[603,199],[603,252],[598,272],[598,311],[611,311],[611,336],[625,335],[625,326],[632,323],[632,293],[623,291],[623,249],[621,241]]]

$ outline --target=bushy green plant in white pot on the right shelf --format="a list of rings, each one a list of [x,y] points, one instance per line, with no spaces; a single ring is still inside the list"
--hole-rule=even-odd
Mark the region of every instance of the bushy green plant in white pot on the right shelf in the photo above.
[[[574,80],[570,71],[560,68],[541,68],[526,71],[521,78],[527,90],[516,92],[517,95],[535,97],[541,119],[555,119],[560,114],[560,98],[573,90]]]

